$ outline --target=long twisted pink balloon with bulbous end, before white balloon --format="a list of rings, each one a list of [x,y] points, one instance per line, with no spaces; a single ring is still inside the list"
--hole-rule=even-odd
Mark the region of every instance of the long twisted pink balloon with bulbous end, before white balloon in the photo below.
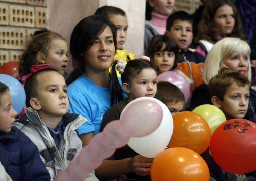
[[[125,114],[122,120],[110,122],[103,132],[94,136],[78,157],[73,158],[69,166],[59,172],[56,181],[79,181],[87,178],[91,170],[101,165],[116,148],[127,144],[130,136],[149,135],[159,127],[163,117],[162,107],[152,97],[131,101],[122,113]]]

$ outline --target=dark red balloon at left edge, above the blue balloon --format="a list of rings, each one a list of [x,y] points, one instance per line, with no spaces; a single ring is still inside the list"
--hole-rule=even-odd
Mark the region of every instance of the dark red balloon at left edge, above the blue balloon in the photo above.
[[[6,62],[0,67],[0,74],[7,74],[13,76],[16,79],[19,79],[19,61],[10,61]]]

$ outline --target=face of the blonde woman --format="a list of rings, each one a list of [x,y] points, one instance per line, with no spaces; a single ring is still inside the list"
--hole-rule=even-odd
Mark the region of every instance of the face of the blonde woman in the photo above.
[[[238,71],[248,77],[249,60],[248,54],[232,53],[229,57],[222,60],[222,62],[232,70]]]

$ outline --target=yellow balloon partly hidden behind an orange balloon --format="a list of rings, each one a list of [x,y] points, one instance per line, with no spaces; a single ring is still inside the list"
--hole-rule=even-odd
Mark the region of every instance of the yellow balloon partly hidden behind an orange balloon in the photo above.
[[[211,134],[223,122],[226,121],[225,114],[218,107],[210,104],[203,104],[196,107],[192,112],[198,113],[209,124]]]

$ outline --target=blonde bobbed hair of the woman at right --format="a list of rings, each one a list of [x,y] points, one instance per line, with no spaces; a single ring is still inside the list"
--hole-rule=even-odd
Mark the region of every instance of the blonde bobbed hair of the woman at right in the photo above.
[[[206,56],[202,75],[205,84],[208,84],[210,79],[218,74],[220,68],[227,67],[224,63],[222,63],[222,60],[235,52],[239,54],[248,54],[248,79],[251,80],[250,46],[248,43],[246,43],[246,41],[241,40],[240,38],[226,37],[215,43],[213,48]]]

